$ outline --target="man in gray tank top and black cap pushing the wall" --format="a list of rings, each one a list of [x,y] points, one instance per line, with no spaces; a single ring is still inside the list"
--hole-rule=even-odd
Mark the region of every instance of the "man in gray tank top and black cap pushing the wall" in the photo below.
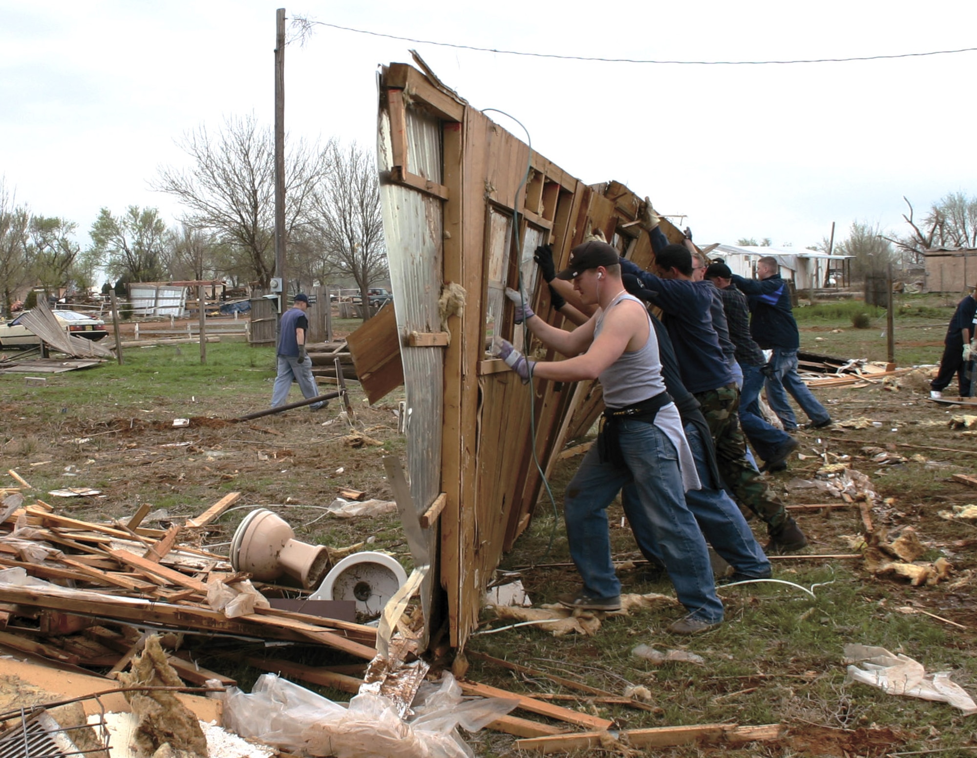
[[[607,508],[629,485],[638,500],[628,521],[643,551],[661,557],[687,615],[668,626],[678,634],[705,631],[723,619],[699,525],[685,502],[701,484],[675,403],[664,389],[658,340],[645,307],[620,279],[616,248],[598,240],[573,248],[560,278],[572,280],[584,304],[599,306],[572,332],[558,329],[520,304],[517,320],[566,360],[532,361],[496,338],[498,356],[524,382],[599,379],[607,409],[598,443],[568,485],[564,518],[573,564],[583,586],[560,602],[568,608],[616,611],[620,582],[611,560]]]

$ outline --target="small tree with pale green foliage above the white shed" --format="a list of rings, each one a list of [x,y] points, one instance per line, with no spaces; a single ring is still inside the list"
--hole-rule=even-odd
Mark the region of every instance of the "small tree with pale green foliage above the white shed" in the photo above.
[[[89,235],[93,251],[103,258],[112,277],[124,281],[158,281],[165,275],[166,224],[155,208],[130,205],[119,216],[112,216],[103,208]]]

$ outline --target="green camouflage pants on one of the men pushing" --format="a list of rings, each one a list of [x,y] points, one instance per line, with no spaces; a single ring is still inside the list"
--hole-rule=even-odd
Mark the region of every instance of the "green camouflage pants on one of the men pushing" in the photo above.
[[[696,394],[705,423],[716,447],[716,463],[723,481],[733,495],[774,531],[786,521],[784,503],[746,460],[746,437],[737,413],[740,391],[736,385]]]

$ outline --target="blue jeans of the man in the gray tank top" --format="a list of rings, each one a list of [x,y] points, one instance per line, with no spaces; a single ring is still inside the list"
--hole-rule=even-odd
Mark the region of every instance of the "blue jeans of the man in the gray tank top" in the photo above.
[[[691,616],[718,623],[723,605],[716,595],[705,540],[686,506],[675,446],[654,424],[634,420],[617,424],[625,465],[602,462],[594,445],[564,497],[570,555],[584,592],[596,598],[620,594],[607,509],[626,485],[627,519],[642,552],[647,549],[661,557],[676,597]]]

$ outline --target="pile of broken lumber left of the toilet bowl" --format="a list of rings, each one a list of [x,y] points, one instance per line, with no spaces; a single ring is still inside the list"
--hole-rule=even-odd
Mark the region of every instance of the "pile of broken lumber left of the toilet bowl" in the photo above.
[[[41,500],[5,508],[0,512],[0,646],[60,665],[117,670],[138,648],[140,630],[153,628],[194,640],[233,640],[235,647],[242,639],[259,648],[274,640],[373,657],[372,627],[267,607],[266,601],[245,603],[229,617],[209,602],[228,587],[262,597],[249,575],[234,572],[225,556],[194,545],[201,528],[237,496],[167,529],[140,526],[142,511],[128,521],[95,524],[55,513]],[[257,586],[270,597],[282,591]],[[202,684],[214,676],[188,672],[187,679]]]

